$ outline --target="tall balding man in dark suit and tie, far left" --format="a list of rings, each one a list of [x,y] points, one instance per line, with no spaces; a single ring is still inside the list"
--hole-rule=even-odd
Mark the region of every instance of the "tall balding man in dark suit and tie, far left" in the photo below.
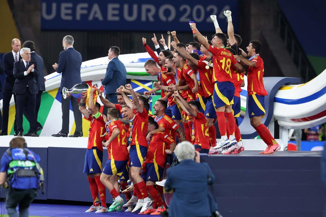
[[[11,41],[12,51],[3,55],[3,68],[6,73],[6,80],[3,88],[3,107],[2,107],[2,126],[1,126],[1,135],[8,135],[8,117],[9,117],[9,103],[12,97],[12,88],[14,87],[15,78],[13,75],[14,62],[19,61],[22,57],[19,54],[21,43],[17,38],[12,39]],[[14,95],[15,107],[16,105],[16,96]],[[17,109],[16,109],[17,112]],[[16,119],[14,122],[15,136],[17,136],[17,127]]]

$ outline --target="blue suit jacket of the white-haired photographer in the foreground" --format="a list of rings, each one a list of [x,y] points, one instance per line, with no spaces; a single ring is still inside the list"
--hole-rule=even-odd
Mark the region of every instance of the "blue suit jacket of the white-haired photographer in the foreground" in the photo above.
[[[211,216],[208,200],[208,175],[215,177],[204,163],[183,160],[167,170],[165,190],[174,189],[169,207],[169,217]]]

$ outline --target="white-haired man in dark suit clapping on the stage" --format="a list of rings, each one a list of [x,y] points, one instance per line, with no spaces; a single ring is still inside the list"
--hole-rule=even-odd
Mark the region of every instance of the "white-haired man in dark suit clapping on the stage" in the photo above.
[[[31,61],[31,53],[29,48],[22,48],[20,54],[21,61],[14,63],[13,75],[15,80],[12,92],[16,94],[16,121],[17,121],[17,136],[22,136],[22,115],[25,104],[27,103],[29,124],[31,132],[30,136],[38,136],[36,133],[36,115],[35,102],[37,94],[37,85],[35,76],[38,76],[37,63]]]

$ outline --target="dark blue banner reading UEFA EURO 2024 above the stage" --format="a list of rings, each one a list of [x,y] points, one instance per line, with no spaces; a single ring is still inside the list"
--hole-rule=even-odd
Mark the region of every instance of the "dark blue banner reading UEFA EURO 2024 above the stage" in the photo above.
[[[216,15],[226,32],[224,10],[232,11],[238,28],[238,0],[41,0],[42,30],[189,31],[189,20],[202,32],[214,32]]]

